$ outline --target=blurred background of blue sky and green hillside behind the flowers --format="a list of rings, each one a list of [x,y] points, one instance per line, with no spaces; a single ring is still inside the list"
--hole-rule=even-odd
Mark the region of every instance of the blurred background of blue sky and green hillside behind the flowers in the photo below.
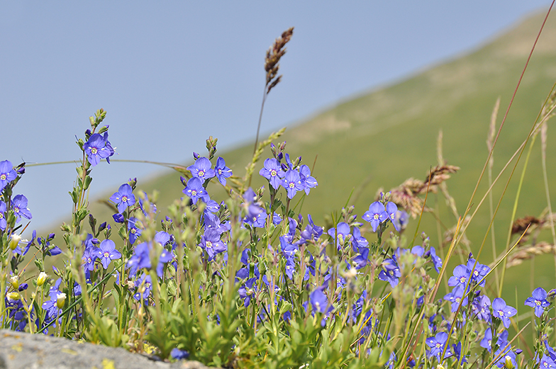
[[[379,188],[424,179],[438,163],[440,130],[443,158],[461,167],[447,183],[463,212],[486,159],[494,103],[501,98],[499,124],[548,6],[546,0],[2,1],[0,159],[14,165],[78,160],[75,137],[83,137],[89,116],[104,108],[113,159],[190,164],[191,153],[205,154],[205,140],[213,135],[218,154],[241,176],[260,113],[265,52],[294,26],[281,62],[284,78],[265,105],[261,137],[289,127],[287,152],[314,164],[320,185],[304,200],[303,212],[322,225],[323,215],[340,210],[353,191],[355,212],[362,215]],[[554,16],[502,131],[495,175],[526,137],[556,80]],[[556,144],[548,132],[553,183]],[[539,215],[546,207],[539,162],[535,147],[517,217]],[[75,166],[28,167],[15,192],[28,197],[29,229],[56,228],[70,214],[67,191]],[[160,190],[162,210],[182,195],[179,174],[152,164],[102,162],[91,175],[91,209],[99,221],[111,214],[95,199],[109,198],[128,178],[137,177],[138,188]],[[515,183],[495,222],[499,250],[506,243]],[[253,183],[264,184],[260,178]],[[485,190],[486,184],[479,195]],[[495,188],[495,200],[501,191]],[[218,186],[209,193],[223,195]],[[428,203],[439,216],[427,215],[421,229],[440,247],[456,219],[440,195]],[[467,234],[472,249],[488,223],[485,205]],[[415,227],[412,221],[408,232]],[[491,253],[484,257],[488,261]],[[551,288],[554,261],[547,256],[536,263],[546,273],[535,275],[535,286]],[[524,265],[520,273],[533,266]]]

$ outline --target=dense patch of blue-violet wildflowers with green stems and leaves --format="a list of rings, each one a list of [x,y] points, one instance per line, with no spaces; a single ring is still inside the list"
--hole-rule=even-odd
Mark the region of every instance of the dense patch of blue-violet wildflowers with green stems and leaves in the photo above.
[[[524,302],[535,319],[527,360],[516,308],[487,284],[491,266],[469,254],[446,276],[443,249],[424,233],[406,239],[407,209],[392,193],[360,217],[350,206],[316,225],[291,200],[318,182],[285,142],[267,142],[257,188],[216,157],[210,137],[208,155],[180,169],[183,197],[167,216],[129,178],[106,201],[113,222],[97,225],[87,196],[91,170],[114,154],[105,115],[77,141],[62,237],[21,239],[32,216],[13,188],[25,164],[0,161],[2,327],[238,368],[556,368],[555,290],[536,288]]]

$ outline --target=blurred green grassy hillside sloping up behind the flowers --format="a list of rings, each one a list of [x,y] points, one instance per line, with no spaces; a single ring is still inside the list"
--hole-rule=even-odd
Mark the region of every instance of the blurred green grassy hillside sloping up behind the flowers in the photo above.
[[[364,190],[353,204],[356,213],[362,215],[374,200],[378,188],[389,190],[409,177],[424,179],[430,166],[437,164],[436,141],[440,130],[443,131],[445,160],[461,168],[447,184],[458,210],[463,212],[486,159],[486,132],[494,103],[498,97],[501,98],[499,124],[542,21],[543,15],[532,16],[468,55],[338,103],[289,127],[282,137],[287,141],[287,152],[292,157],[301,155],[309,166],[313,166],[318,156],[313,176],[319,186],[304,201],[304,214],[310,213],[317,224],[323,225],[323,215],[340,210],[352,189],[360,188],[365,183]],[[556,19],[552,17],[540,38],[501,133],[494,153],[495,174],[526,137],[555,80]],[[272,103],[272,94],[269,98],[269,103]],[[264,115],[262,130],[265,130]],[[556,167],[556,142],[550,129],[548,135],[547,165],[554,185],[556,174],[551,169]],[[218,137],[218,132],[213,132],[213,136]],[[533,149],[518,217],[538,215],[546,206],[539,140],[537,146]],[[230,152],[218,152],[239,176],[243,176],[251,153],[252,142]],[[268,151],[266,157],[269,156]],[[507,175],[504,175],[504,181],[505,178]],[[509,188],[495,223],[499,248],[506,240],[517,182],[518,175]],[[262,178],[255,178],[253,182],[253,186],[263,184],[266,185],[266,181]],[[503,185],[496,186],[496,200]],[[179,174],[172,172],[150,181],[139,181],[138,188],[148,193],[157,188],[160,191],[158,208],[165,210],[169,203],[182,195],[183,186]],[[556,197],[556,186],[552,188],[552,195]],[[484,194],[486,178],[481,189],[475,203]],[[217,200],[225,196],[220,186],[209,188],[209,193]],[[443,198],[440,195],[431,196],[429,205],[435,202],[443,203]],[[104,205],[94,203],[91,210],[99,220],[111,219]],[[455,224],[455,217],[444,206],[440,206],[440,219],[448,227]],[[489,212],[485,203],[467,234],[474,249],[482,242],[488,222]],[[415,226],[416,221],[412,221],[408,232],[414,232]],[[432,216],[425,216],[421,229],[428,232],[431,244],[436,246],[438,230]],[[367,237],[372,239],[374,235],[367,234]],[[483,262],[491,260],[490,250],[490,244],[487,244]],[[531,263],[526,262],[511,269],[512,273],[506,280],[506,293],[513,296],[513,283],[528,280],[530,266]],[[535,283],[552,288],[555,283],[552,256],[539,257],[535,266]],[[540,267],[545,272],[539,273]],[[530,292],[528,281],[526,283],[523,285],[526,287],[523,288],[523,298]]]

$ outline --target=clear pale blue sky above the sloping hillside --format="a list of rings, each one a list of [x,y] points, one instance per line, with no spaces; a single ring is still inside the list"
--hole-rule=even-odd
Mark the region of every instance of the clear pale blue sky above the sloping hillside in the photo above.
[[[294,36],[262,132],[474,50],[546,0],[4,1],[0,0],[0,160],[79,159],[89,115],[107,110],[115,159],[184,163],[209,135],[251,142],[265,51]],[[552,15],[554,16],[554,15]],[[533,40],[532,40],[533,42]],[[16,187],[30,228],[70,214],[74,164],[29,167]],[[91,195],[149,164],[102,163]]]

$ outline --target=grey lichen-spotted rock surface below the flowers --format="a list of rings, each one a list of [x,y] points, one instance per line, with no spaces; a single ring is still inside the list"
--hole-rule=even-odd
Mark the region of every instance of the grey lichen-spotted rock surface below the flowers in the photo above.
[[[0,330],[0,369],[208,369],[196,361],[165,363],[113,348],[44,334]]]

